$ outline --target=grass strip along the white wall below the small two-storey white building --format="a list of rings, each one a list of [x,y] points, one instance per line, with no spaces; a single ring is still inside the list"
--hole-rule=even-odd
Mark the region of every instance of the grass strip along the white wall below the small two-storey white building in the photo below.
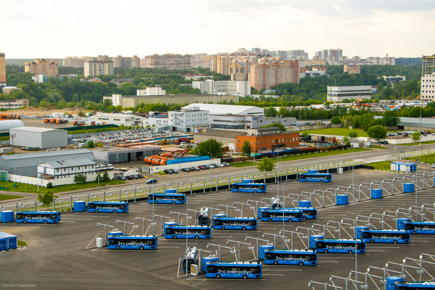
[[[111,179],[107,182],[101,182],[100,181],[100,187],[104,186],[106,184],[108,185],[113,185],[113,184],[123,184],[125,183],[125,181],[122,180],[117,180],[117,179]],[[23,187],[21,187],[21,183],[19,182],[15,182],[15,184],[18,186],[17,188],[12,188],[13,182],[8,182],[7,187],[9,187],[9,189],[7,191],[14,191],[14,192],[26,192],[26,187],[27,187],[27,192],[28,193],[41,193],[41,189],[39,188],[39,191],[37,191],[37,186],[36,185],[32,185],[32,184],[26,184],[23,183]],[[50,188],[50,190],[53,193],[57,193],[57,192],[64,192],[64,191],[70,191],[70,190],[81,190],[81,189],[87,189],[87,188],[91,188],[91,187],[98,187],[98,183],[93,181],[93,182],[87,182],[87,183],[74,183],[74,184],[65,184],[65,185],[59,185],[59,186],[55,186],[53,188]],[[47,190],[44,187],[44,192],[45,190]],[[11,195],[11,197],[13,197],[13,195]],[[16,198],[16,197],[13,197]]]

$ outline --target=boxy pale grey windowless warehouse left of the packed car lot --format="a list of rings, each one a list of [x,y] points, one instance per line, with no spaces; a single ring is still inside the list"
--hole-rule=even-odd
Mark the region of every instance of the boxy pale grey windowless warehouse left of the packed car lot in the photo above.
[[[68,146],[67,130],[17,127],[9,130],[9,137],[11,144],[25,147],[39,147],[43,149]]]

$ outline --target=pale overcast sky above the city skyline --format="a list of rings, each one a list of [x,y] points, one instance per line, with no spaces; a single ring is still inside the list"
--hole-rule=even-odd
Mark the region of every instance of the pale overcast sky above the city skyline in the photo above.
[[[0,0],[6,58],[342,49],[435,53],[433,0]]]

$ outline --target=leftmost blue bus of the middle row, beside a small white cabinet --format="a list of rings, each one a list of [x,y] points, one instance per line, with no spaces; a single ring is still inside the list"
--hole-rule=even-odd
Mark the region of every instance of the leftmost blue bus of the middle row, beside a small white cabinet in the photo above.
[[[107,249],[153,250],[157,248],[156,236],[109,236]]]

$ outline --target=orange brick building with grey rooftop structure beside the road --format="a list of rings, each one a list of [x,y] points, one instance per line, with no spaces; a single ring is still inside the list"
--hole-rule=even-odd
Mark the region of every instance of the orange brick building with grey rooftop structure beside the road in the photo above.
[[[252,152],[269,150],[276,147],[298,147],[299,133],[280,132],[278,127],[248,129],[248,135],[237,135],[236,151],[242,152],[243,141],[248,140]]]

